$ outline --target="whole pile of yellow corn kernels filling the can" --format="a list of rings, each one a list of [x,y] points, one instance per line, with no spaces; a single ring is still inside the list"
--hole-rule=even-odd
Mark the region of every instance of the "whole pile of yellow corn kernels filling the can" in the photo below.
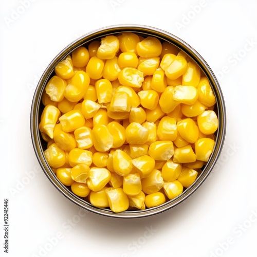
[[[190,187],[218,119],[207,77],[153,36],[107,35],[54,69],[39,129],[57,178],[98,208],[145,210]]]

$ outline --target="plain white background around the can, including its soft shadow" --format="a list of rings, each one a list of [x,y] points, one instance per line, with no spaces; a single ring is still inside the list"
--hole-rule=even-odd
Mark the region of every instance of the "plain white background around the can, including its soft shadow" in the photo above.
[[[24,2],[0,4],[0,224],[9,198],[10,225],[8,254],[0,229],[0,255],[257,256],[257,2]],[[217,76],[227,107],[224,148],[208,179],[183,204],[141,219],[81,212],[39,168],[30,137],[33,93],[50,61],[81,35],[125,23],[154,26],[190,44]]]

